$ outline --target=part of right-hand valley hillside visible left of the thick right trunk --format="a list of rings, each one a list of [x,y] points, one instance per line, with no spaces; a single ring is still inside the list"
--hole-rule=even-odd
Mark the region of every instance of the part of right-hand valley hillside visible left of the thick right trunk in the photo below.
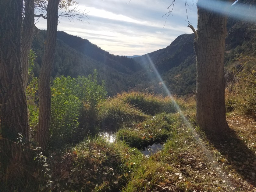
[[[144,87],[147,91],[165,94],[166,90],[163,87],[165,83],[172,94],[194,93],[196,60],[193,41],[194,34],[183,34],[166,48],[134,58],[144,66],[144,70],[133,77],[135,82],[140,82],[134,89]]]

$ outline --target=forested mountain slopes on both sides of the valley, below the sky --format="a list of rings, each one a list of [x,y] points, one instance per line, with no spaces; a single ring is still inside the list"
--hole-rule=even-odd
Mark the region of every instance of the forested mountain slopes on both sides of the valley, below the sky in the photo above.
[[[246,5],[246,6],[245,6]],[[232,6],[254,7],[254,0],[240,0]],[[248,14],[255,17],[256,12]],[[232,66],[237,53],[256,55],[256,24],[246,18],[228,18],[225,63]],[[32,48],[37,53],[34,73],[39,74],[46,31],[35,33]],[[168,47],[138,56],[112,55],[86,39],[58,31],[52,76],[87,76],[97,69],[99,80],[106,81],[110,96],[120,91],[143,90],[165,94],[164,86],[172,94],[194,94],[196,88],[196,57],[194,34],[178,36]],[[159,78],[160,77],[160,78]]]

